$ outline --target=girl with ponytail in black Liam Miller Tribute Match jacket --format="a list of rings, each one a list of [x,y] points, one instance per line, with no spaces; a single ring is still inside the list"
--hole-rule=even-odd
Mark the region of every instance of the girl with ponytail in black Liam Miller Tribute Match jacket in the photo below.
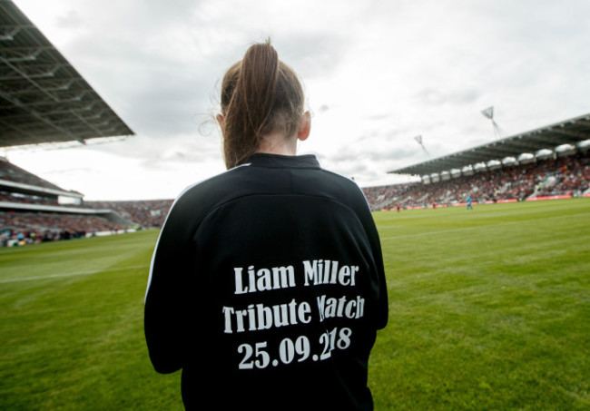
[[[310,113],[267,42],[221,83],[228,171],[172,205],[152,257],[145,337],[182,369],[187,409],[369,410],[388,321],[379,234],[354,181],[296,155]]]

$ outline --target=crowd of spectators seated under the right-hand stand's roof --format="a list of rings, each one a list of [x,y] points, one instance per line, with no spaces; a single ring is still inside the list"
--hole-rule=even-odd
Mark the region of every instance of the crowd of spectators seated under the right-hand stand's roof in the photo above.
[[[363,189],[373,210],[474,202],[524,201],[529,197],[576,196],[590,188],[589,152],[477,171],[444,181]]]

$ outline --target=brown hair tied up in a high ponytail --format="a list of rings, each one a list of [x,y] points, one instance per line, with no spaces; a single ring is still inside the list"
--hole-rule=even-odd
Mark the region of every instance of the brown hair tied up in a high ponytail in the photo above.
[[[253,44],[221,83],[223,154],[228,169],[256,152],[270,132],[298,130],[304,95],[293,70],[279,60],[270,42]]]

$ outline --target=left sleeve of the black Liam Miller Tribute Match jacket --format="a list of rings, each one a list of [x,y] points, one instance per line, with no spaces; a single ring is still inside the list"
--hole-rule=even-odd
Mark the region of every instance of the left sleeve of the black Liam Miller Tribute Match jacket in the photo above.
[[[182,206],[175,201],[162,227],[150,267],[143,325],[157,372],[182,368],[186,353],[187,279],[192,269],[191,235]]]

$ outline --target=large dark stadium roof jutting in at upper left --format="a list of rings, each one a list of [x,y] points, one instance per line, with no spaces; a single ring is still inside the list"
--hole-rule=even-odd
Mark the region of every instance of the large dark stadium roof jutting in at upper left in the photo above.
[[[133,135],[11,0],[0,0],[0,147]]]

